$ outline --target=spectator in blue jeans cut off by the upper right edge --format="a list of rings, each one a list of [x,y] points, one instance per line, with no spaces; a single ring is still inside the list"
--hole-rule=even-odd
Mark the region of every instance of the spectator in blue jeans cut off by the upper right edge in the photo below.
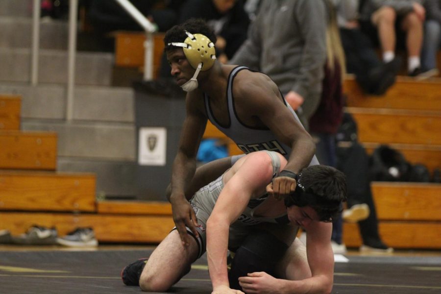
[[[425,76],[439,74],[437,53],[441,45],[441,0],[425,0],[426,22],[421,53],[422,70]]]

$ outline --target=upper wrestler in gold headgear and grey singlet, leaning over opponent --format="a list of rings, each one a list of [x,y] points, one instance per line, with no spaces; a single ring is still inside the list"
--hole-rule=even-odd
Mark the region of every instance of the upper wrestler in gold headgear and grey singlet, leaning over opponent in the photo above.
[[[295,190],[295,174],[318,164],[315,144],[286,103],[275,83],[264,73],[223,65],[216,60],[216,36],[201,20],[172,27],[164,38],[172,76],[187,92],[187,116],[172,168],[173,221],[184,245],[186,227],[197,236],[197,218],[185,198],[196,170],[196,153],[208,120],[231,138],[244,153],[277,151],[288,164],[268,189],[276,198]],[[212,180],[212,179],[210,179]]]

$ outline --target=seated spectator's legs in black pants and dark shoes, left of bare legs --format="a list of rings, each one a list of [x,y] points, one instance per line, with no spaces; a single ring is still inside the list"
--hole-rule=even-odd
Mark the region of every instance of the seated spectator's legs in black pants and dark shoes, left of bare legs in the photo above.
[[[346,70],[353,73],[362,90],[370,95],[383,95],[395,82],[401,59],[383,63],[372,42],[360,29],[360,0],[333,0],[337,9],[337,21],[344,54]]]

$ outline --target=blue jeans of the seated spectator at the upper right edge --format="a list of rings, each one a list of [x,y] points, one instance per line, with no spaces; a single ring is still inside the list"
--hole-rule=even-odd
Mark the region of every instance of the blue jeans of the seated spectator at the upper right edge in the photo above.
[[[441,43],[441,24],[435,20],[424,23],[424,40],[421,65],[424,71],[437,68],[437,53]]]

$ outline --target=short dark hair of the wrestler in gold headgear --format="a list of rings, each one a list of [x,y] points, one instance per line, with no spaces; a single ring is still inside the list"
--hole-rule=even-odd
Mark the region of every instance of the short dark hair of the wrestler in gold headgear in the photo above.
[[[213,29],[203,19],[192,18],[180,25],[174,25],[166,32],[164,36],[164,51],[179,48],[169,44],[184,42],[188,37],[185,31],[191,34],[202,34],[210,39],[213,44],[216,44],[217,38]]]

